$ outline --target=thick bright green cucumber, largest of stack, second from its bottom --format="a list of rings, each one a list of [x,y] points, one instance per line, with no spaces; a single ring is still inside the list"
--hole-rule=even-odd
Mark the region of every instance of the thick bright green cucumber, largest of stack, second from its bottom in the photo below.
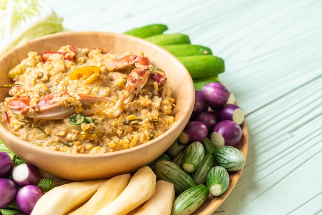
[[[224,60],[216,56],[197,55],[177,57],[177,59],[186,67],[193,80],[218,76],[225,71]]]

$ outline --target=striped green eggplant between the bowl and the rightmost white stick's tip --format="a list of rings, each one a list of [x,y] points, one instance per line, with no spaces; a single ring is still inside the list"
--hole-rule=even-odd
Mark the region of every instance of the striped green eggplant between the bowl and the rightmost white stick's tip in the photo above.
[[[159,180],[171,182],[174,185],[176,194],[180,194],[186,189],[195,186],[192,177],[180,166],[169,160],[160,160],[154,165],[154,173]]]

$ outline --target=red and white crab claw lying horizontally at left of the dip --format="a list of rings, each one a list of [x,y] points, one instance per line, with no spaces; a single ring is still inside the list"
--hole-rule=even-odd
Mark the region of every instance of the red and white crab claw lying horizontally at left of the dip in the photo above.
[[[104,96],[93,96],[77,94],[81,103],[107,102],[113,99]],[[55,99],[63,98],[62,102]],[[7,108],[19,115],[24,115],[35,119],[63,119],[76,113],[76,106],[71,101],[76,101],[76,98],[71,97],[66,91],[62,93],[51,93],[39,98],[37,103],[38,109],[30,104],[31,98],[12,97],[6,102]],[[64,103],[64,105],[62,105]]]

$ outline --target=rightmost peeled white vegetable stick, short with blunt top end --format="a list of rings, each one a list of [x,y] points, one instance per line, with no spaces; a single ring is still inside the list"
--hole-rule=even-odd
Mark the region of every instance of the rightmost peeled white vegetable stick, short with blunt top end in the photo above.
[[[174,195],[172,183],[158,180],[154,195],[133,215],[170,215]]]

